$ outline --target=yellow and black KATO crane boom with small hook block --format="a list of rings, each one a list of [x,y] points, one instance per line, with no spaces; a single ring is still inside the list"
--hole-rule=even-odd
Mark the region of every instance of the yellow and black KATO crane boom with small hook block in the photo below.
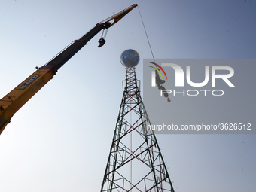
[[[61,68],[75,53],[78,53],[91,38],[98,34],[102,29],[108,29],[117,23],[121,18],[128,14],[133,8],[136,8],[136,4],[120,11],[118,14],[114,14],[106,20],[97,23],[87,34],[80,39],[73,41],[65,50],[62,50],[57,56],[47,62],[44,66],[41,66],[36,70],[29,78],[26,78],[21,84],[11,90],[6,96],[0,100],[0,134],[5,129],[5,126],[10,123],[11,117],[27,102],[41,87],[44,87],[57,70]],[[113,23],[111,23],[111,21]],[[99,41],[99,43],[101,43]],[[105,42],[103,42],[104,44]],[[99,47],[101,47],[103,45]]]

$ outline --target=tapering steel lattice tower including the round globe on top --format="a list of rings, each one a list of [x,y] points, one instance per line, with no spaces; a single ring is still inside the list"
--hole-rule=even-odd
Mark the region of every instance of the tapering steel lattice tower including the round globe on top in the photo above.
[[[139,54],[125,50],[123,99],[117,118],[101,191],[172,191],[172,181],[140,96],[135,66]]]

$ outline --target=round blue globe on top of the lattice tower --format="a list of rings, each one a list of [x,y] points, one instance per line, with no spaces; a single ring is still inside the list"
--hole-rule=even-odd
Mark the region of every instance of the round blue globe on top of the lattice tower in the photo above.
[[[136,50],[124,50],[120,56],[120,62],[125,67],[135,67],[139,63],[139,53]]]

